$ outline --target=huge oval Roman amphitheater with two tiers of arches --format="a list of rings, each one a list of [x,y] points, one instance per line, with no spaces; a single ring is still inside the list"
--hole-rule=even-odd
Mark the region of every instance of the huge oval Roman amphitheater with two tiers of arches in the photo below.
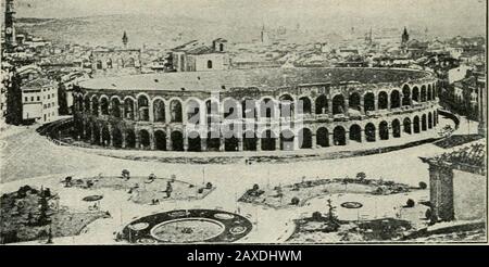
[[[410,140],[438,124],[437,79],[398,68],[106,77],[74,92],[77,138],[158,151],[298,151]],[[415,138],[414,138],[415,139]]]

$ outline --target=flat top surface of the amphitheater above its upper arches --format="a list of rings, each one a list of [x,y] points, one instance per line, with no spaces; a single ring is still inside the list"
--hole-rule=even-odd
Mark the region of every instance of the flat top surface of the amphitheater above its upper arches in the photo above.
[[[431,74],[400,68],[353,68],[353,67],[298,67],[254,68],[218,72],[184,72],[142,74],[122,77],[88,79],[79,84],[86,89],[114,90],[193,90],[211,91],[222,88],[276,89],[310,84],[339,85],[346,81],[360,84],[393,82],[401,86],[413,79],[431,78]]]

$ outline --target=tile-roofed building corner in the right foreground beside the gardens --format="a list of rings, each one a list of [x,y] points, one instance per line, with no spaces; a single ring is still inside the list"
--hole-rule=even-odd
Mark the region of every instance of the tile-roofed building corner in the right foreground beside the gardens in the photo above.
[[[429,203],[435,219],[450,221],[486,218],[484,141],[422,161],[429,165]]]

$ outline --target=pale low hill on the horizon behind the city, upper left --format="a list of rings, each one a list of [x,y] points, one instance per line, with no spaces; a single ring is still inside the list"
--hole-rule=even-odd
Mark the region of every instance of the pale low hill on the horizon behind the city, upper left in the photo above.
[[[247,41],[260,36],[260,28],[224,25],[186,16],[162,17],[139,15],[104,15],[71,18],[17,18],[21,31],[49,40],[100,46],[118,46],[123,31],[129,46],[161,44],[172,47],[191,39],[210,41],[217,37]]]

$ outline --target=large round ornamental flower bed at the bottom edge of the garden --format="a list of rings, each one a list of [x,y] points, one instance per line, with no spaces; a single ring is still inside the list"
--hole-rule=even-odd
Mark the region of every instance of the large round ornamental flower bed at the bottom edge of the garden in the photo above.
[[[251,228],[251,221],[238,214],[180,209],[136,219],[117,237],[131,243],[234,242],[247,236]]]

